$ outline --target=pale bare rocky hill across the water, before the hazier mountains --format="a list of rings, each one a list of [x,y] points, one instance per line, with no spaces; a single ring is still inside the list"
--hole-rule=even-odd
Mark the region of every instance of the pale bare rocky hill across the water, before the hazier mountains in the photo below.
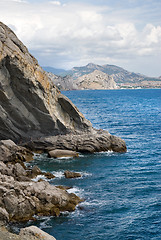
[[[99,70],[77,78],[76,84],[78,89],[117,89],[113,77]]]

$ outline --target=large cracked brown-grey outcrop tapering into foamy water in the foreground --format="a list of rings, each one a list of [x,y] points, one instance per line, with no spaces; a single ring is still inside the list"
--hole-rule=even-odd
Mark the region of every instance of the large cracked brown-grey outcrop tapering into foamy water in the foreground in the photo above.
[[[59,216],[61,211],[74,211],[80,198],[56,188],[46,181],[19,182],[0,173],[0,206],[9,221],[27,221],[34,215]]]

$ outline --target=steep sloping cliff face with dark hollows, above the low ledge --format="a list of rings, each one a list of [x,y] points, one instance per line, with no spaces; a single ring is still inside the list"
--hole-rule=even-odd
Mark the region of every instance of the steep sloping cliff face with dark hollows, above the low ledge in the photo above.
[[[90,129],[91,123],[0,22],[0,139],[20,141]]]

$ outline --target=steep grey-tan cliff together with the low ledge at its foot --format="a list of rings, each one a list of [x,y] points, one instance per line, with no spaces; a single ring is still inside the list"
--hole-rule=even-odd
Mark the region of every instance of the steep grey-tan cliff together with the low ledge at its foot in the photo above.
[[[48,136],[51,143],[46,147],[52,150],[126,151],[123,140],[92,128],[11,29],[0,22],[0,139],[33,140],[34,144],[37,139],[46,145]]]

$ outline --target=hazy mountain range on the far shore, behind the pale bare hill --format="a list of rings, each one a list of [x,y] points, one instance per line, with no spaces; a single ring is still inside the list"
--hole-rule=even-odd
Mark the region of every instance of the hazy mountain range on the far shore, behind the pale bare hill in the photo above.
[[[104,73],[104,74],[110,75],[114,79],[118,88],[161,88],[160,77],[158,78],[147,77],[140,73],[129,72],[121,67],[118,67],[115,65],[109,65],[109,64],[98,65],[94,63],[89,63],[86,66],[73,67],[71,70],[68,70],[68,71],[64,70],[63,72],[60,71],[59,73],[55,73],[56,75],[61,75],[61,77],[63,77],[62,79],[61,78],[56,79],[55,77],[53,77],[52,79],[56,85],[57,84],[59,85],[60,89],[64,89],[64,90],[83,89],[83,88],[87,89],[87,82],[88,82],[88,87],[89,85],[92,84],[93,86],[95,85],[96,87],[95,89],[98,89],[98,87],[101,87],[101,86],[98,86],[98,84],[92,83],[92,79],[91,79],[91,76],[92,76],[93,82],[96,80],[94,77],[95,74],[90,75],[94,71],[99,71],[102,74]],[[85,77],[86,80],[83,80],[84,87],[82,85],[82,88],[81,88],[81,84],[80,84],[81,77],[85,75],[86,75]],[[102,84],[103,82],[100,82],[100,85]],[[106,85],[105,81],[104,81],[104,84]],[[103,89],[103,85],[101,89]],[[104,86],[104,89],[107,89],[106,86]]]

